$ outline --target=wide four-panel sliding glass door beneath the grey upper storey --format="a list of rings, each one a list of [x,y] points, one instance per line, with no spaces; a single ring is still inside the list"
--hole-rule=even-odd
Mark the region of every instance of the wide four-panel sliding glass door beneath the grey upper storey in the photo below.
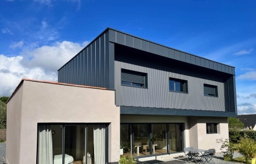
[[[120,126],[120,155],[150,156],[181,152],[183,123],[129,123]]]

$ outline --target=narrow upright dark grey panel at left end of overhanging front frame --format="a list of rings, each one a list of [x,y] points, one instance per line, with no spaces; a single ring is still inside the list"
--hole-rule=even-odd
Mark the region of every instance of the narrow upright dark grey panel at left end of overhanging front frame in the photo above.
[[[109,89],[115,90],[115,44],[109,43]]]

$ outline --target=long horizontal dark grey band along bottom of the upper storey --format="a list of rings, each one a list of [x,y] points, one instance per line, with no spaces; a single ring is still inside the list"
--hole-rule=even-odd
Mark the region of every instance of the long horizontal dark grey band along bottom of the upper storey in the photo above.
[[[237,117],[235,112],[179,110],[168,108],[120,107],[121,115],[148,116],[197,116],[197,117]]]

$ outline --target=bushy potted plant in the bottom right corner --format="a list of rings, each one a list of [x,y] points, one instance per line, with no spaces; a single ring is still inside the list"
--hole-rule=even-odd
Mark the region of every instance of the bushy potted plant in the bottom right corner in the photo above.
[[[239,152],[246,158],[247,164],[255,164],[256,143],[250,138],[241,138],[238,146]]]

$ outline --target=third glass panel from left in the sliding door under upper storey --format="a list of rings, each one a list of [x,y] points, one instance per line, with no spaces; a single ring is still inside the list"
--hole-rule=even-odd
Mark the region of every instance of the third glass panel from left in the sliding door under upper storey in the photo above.
[[[152,124],[152,154],[167,153],[166,124]]]

